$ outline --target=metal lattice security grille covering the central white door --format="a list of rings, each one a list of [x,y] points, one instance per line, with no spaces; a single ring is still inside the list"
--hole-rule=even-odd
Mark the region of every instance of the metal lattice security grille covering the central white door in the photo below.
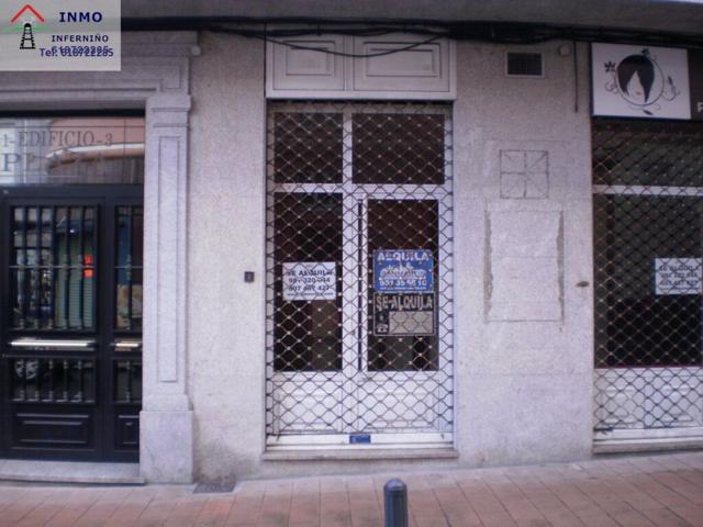
[[[450,440],[450,106],[271,103],[267,132],[269,438]]]

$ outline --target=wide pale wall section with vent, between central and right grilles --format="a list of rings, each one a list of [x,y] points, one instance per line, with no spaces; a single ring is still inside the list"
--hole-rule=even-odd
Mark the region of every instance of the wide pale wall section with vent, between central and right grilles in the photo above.
[[[588,48],[576,111],[559,45],[458,46],[457,447],[470,464],[591,450]],[[543,52],[545,77],[505,77],[506,49]]]

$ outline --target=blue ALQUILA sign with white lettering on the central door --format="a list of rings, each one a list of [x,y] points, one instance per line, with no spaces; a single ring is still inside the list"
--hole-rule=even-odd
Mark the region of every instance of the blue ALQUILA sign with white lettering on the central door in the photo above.
[[[432,251],[373,251],[373,289],[379,293],[433,291]]]

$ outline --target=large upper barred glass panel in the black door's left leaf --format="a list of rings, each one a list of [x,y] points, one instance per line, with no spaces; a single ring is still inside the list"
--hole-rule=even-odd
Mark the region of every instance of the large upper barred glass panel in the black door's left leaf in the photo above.
[[[11,326],[91,329],[96,209],[12,208]]]

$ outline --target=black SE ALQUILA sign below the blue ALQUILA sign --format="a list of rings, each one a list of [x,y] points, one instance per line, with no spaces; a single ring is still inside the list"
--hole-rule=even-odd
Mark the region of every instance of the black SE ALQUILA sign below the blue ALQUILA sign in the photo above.
[[[435,334],[434,293],[373,293],[373,335]]]

